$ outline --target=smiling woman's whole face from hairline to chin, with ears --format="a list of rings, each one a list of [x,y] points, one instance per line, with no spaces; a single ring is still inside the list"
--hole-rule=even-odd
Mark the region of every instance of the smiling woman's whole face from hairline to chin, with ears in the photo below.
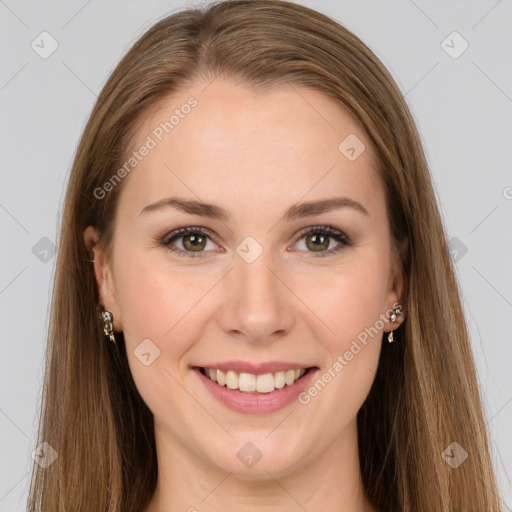
[[[353,443],[402,292],[361,126],[320,92],[216,79],[169,97],[132,150],[95,271],[160,446],[256,479]],[[313,370],[283,386],[295,368]]]

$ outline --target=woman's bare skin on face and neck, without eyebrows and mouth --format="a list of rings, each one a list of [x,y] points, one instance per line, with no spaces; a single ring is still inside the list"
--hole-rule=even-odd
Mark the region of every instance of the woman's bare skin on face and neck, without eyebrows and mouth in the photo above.
[[[205,85],[174,94],[145,119],[136,148],[190,96],[198,102],[124,178],[112,261],[95,250],[101,302],[124,331],[155,418],[158,485],[145,512],[376,512],[361,483],[356,415],[382,334],[398,326],[389,313],[378,320],[400,302],[403,269],[370,141],[319,92],[282,85],[261,95],[220,78]],[[366,146],[353,161],[338,149],[349,134]],[[217,205],[230,218],[172,207],[141,214],[168,197]],[[284,217],[297,203],[335,197],[367,213],[344,206]],[[322,239],[321,229],[298,237],[325,225],[352,245]],[[182,227],[208,231],[200,250],[187,235],[170,244],[181,256],[158,243]],[[263,250],[251,263],[236,251],[248,236]],[[92,248],[98,232],[89,226],[84,240]],[[231,410],[191,368],[281,360],[323,373],[372,326],[378,335],[359,343],[321,392],[268,414]],[[148,366],[134,354],[144,339],[160,350]],[[248,442],[262,454],[252,467],[237,457]]]

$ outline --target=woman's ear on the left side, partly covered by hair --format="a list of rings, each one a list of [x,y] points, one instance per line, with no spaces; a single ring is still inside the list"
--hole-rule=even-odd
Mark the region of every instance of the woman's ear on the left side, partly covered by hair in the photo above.
[[[121,311],[117,301],[117,295],[114,285],[114,276],[107,257],[98,246],[100,235],[94,226],[88,226],[84,231],[84,242],[87,248],[90,261],[94,266],[94,277],[98,288],[100,304],[110,311],[114,318],[114,331],[122,330]]]

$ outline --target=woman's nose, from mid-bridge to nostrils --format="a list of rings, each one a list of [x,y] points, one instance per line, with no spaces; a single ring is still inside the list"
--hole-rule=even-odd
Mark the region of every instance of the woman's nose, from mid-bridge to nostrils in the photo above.
[[[253,343],[274,342],[292,329],[293,292],[281,268],[266,251],[256,261],[237,258],[224,279],[224,298],[217,314],[229,336]]]

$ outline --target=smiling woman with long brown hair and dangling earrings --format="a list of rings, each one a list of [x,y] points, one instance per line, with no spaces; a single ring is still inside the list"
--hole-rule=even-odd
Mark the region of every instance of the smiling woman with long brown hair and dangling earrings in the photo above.
[[[46,372],[30,511],[500,510],[414,121],[300,5],[173,14],[113,72]]]

